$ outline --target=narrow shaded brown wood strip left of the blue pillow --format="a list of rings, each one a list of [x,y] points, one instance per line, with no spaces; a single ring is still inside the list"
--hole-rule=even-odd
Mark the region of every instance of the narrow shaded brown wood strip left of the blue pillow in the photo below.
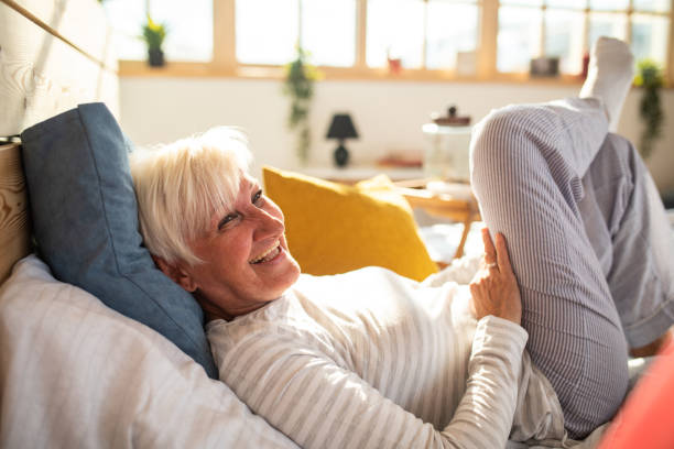
[[[20,145],[0,145],[0,284],[30,251],[29,206]]]

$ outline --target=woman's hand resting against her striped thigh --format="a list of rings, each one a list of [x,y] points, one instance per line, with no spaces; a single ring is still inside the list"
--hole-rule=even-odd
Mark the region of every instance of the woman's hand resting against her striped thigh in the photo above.
[[[472,307],[477,319],[493,315],[517,325],[522,320],[522,299],[518,280],[510,265],[510,256],[502,233],[496,236],[496,248],[489,229],[482,229],[485,260],[470,282]]]

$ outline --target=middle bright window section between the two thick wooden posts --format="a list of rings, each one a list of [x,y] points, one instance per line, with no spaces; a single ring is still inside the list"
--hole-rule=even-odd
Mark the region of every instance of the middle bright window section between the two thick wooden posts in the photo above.
[[[300,44],[314,64],[352,67],[357,19],[357,0],[236,0],[236,59],[281,65]],[[368,0],[366,30],[368,67],[400,58],[406,68],[452,68],[458,51],[477,47],[478,7],[475,0]]]

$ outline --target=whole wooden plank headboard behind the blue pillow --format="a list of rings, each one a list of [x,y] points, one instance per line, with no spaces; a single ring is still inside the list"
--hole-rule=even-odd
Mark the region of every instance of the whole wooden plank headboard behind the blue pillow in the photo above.
[[[0,283],[30,251],[29,202],[15,136],[91,101],[104,101],[118,117],[117,59],[100,3],[0,0]]]

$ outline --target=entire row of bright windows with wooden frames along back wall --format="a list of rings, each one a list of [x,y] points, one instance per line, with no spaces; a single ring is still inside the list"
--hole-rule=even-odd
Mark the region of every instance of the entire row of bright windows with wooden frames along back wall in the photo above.
[[[152,74],[138,39],[145,8],[168,29],[164,70],[271,76],[301,45],[328,77],[528,79],[532,58],[559,58],[577,81],[600,35],[666,68],[674,0],[106,0],[121,73]],[[401,73],[392,69],[400,59]],[[138,61],[138,63],[132,63]],[[135,70],[135,72],[134,72]],[[674,81],[674,70],[666,70]],[[153,72],[156,74],[157,72]]]

